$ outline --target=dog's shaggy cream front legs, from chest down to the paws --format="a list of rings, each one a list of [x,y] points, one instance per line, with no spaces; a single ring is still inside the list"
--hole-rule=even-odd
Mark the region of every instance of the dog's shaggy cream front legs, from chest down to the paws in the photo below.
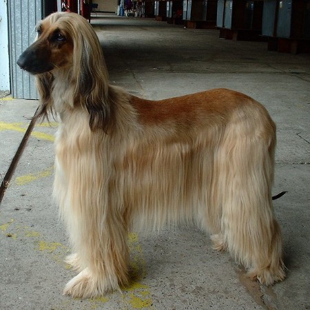
[[[111,164],[103,161],[101,152],[92,156],[90,149],[96,138],[88,137],[87,130],[83,135],[86,138],[79,136],[79,148],[78,143],[68,143],[62,131],[56,138],[53,195],[74,253],[67,262],[80,271],[63,293],[94,298],[127,285],[130,256],[122,195],[116,193],[116,180],[103,174]],[[87,145],[87,141],[92,145]]]

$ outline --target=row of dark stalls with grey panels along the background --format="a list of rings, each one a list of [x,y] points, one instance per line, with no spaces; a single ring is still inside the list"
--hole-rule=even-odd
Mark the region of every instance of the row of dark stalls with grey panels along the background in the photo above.
[[[219,28],[224,39],[265,39],[269,49],[298,52],[310,41],[310,0],[137,1],[141,16],[184,23],[187,28]]]

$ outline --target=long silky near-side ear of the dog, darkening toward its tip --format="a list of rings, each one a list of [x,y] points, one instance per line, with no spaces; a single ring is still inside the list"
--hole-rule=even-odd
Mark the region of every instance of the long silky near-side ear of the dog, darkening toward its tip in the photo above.
[[[107,132],[111,109],[108,102],[109,79],[99,39],[84,21],[74,38],[73,76],[76,76],[75,102],[90,114],[90,128]]]

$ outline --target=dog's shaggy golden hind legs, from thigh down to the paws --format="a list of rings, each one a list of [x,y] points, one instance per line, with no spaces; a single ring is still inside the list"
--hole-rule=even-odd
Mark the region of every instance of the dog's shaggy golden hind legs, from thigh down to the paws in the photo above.
[[[271,285],[285,278],[280,228],[271,203],[275,136],[272,126],[259,132],[247,125],[244,129],[234,123],[227,129],[217,154],[222,216],[214,247],[227,248],[249,276]]]

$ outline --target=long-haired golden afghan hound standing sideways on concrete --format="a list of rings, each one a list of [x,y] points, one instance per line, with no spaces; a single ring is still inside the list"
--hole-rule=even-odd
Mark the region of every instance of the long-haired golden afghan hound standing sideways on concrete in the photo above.
[[[150,101],[109,85],[99,39],[74,13],[37,24],[19,66],[35,74],[37,118],[59,116],[53,196],[88,298],[130,282],[128,231],[194,223],[251,278],[285,278],[271,201],[276,126],[245,94],[216,89]]]

